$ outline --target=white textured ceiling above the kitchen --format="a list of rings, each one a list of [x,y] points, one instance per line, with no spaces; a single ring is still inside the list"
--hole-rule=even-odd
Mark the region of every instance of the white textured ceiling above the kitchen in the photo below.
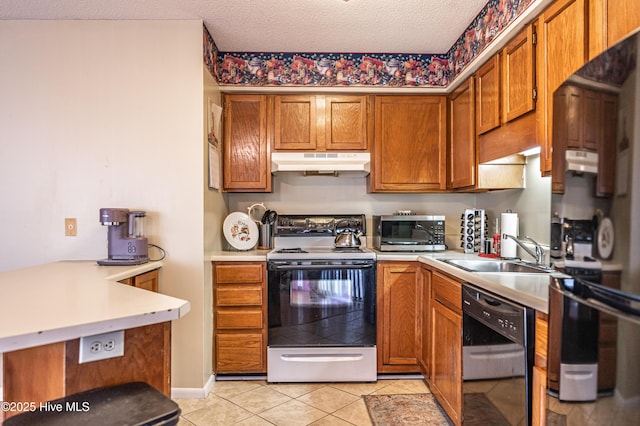
[[[202,19],[223,52],[446,53],[487,0],[2,0],[0,19]]]

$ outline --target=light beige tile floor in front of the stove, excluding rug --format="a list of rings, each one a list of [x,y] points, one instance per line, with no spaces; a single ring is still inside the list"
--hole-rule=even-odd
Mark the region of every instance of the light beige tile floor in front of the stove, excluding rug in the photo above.
[[[371,425],[363,395],[429,393],[424,380],[376,383],[217,381],[204,399],[176,399],[179,426]]]

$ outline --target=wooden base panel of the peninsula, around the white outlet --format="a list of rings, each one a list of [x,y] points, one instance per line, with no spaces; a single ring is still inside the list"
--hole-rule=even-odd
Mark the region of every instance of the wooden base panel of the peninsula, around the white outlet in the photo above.
[[[79,363],[80,339],[5,352],[3,401],[51,401],[101,386],[141,381],[171,393],[171,323],[125,330],[124,355]],[[6,413],[8,418],[17,412]]]

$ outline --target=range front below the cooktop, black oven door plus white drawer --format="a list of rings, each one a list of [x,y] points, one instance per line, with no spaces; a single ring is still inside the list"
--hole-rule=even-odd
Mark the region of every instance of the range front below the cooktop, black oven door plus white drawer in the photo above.
[[[375,261],[269,261],[267,381],[377,380]]]

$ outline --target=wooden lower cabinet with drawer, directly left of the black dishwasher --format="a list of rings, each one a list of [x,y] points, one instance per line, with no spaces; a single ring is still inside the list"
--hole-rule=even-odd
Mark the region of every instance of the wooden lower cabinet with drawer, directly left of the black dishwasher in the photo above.
[[[462,286],[431,275],[431,374],[429,386],[451,421],[462,424]]]

